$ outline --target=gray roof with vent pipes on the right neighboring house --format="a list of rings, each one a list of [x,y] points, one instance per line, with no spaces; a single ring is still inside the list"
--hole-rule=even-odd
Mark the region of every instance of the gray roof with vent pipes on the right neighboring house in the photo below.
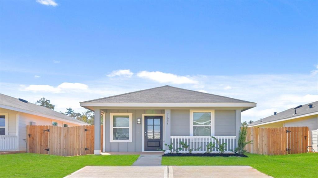
[[[309,104],[312,104],[312,108],[309,108]],[[296,107],[295,107],[296,108]],[[302,105],[299,108],[296,108],[296,114],[295,109],[290,108],[285,111],[278,112],[276,115],[268,116],[267,118],[262,118],[261,120],[252,122],[252,124],[249,124],[249,126],[256,126],[256,125],[263,125],[263,124],[269,124],[273,122],[280,122],[284,119],[294,119],[294,118],[300,118],[310,115],[318,114],[318,101],[308,103],[305,105]]]

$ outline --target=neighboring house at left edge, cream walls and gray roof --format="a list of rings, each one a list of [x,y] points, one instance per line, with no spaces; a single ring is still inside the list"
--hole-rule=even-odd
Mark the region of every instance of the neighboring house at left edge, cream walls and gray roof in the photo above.
[[[57,111],[0,93],[0,151],[26,151],[26,125],[88,125]]]

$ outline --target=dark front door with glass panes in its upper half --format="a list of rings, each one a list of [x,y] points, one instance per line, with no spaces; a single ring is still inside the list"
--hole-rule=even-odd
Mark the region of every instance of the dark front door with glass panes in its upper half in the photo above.
[[[145,151],[162,149],[162,116],[145,116]]]

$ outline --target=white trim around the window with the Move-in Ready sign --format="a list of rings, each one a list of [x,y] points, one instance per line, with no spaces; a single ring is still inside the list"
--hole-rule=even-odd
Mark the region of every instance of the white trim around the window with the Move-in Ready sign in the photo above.
[[[114,140],[113,139],[113,116],[129,116],[129,140]],[[109,113],[110,118],[110,129],[109,129],[109,142],[133,142],[133,113],[132,112],[124,112],[124,113]],[[120,128],[120,127],[116,127]],[[127,128],[127,127],[125,127]]]

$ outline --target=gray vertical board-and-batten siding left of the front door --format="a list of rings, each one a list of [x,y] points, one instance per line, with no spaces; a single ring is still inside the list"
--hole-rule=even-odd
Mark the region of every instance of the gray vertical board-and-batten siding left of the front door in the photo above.
[[[137,124],[136,119],[142,114],[164,114],[164,110],[102,110],[105,115],[105,151],[107,152],[140,152],[142,151],[142,123]],[[109,141],[110,113],[133,113],[132,142],[117,143]]]

